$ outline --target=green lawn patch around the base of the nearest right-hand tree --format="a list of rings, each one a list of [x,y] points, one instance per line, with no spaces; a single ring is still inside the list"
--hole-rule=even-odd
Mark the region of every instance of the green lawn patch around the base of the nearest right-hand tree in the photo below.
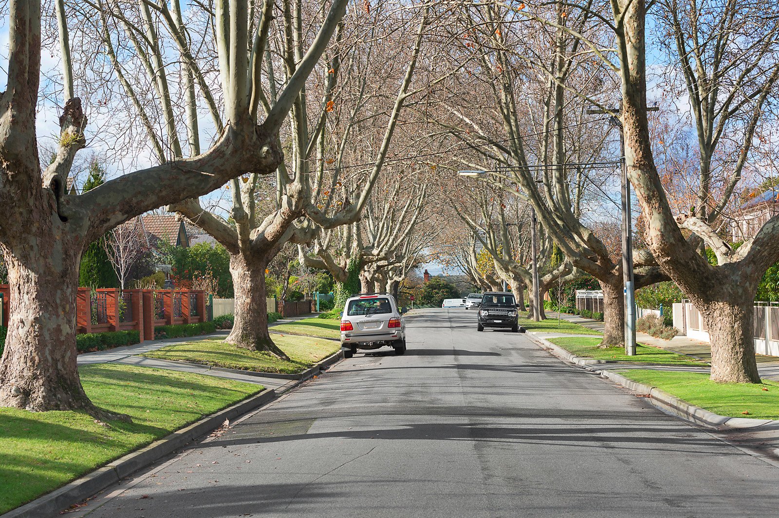
[[[710,381],[708,374],[643,369],[620,371],[620,374],[639,383],[657,387],[715,414],[779,419],[779,383],[774,381],[763,381],[759,384],[717,383]]]

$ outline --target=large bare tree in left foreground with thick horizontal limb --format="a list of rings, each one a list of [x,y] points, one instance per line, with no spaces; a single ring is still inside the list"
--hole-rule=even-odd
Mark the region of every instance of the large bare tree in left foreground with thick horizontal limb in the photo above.
[[[85,244],[147,210],[206,194],[241,174],[275,172],[283,159],[277,132],[346,4],[333,1],[296,72],[258,124],[262,62],[256,57],[263,55],[267,36],[263,26],[270,23],[272,5],[266,3],[266,23],[250,32],[248,0],[216,2],[214,26],[227,124],[213,145],[196,156],[165,159],[80,195],[66,193],[65,180],[73,157],[86,143],[81,101],[65,100],[57,157],[42,171],[35,133],[41,5],[37,1],[10,5],[8,82],[0,95],[0,253],[16,296],[0,361],[0,404],[36,411],[83,408],[103,418],[114,417],[93,406],[76,369],[76,284]],[[142,9],[150,5],[143,2]],[[61,32],[67,47],[67,35]],[[137,31],[133,34],[140,37]],[[155,50],[153,60],[163,59],[153,38],[147,43]],[[108,44],[105,52],[111,54]],[[64,69],[72,70],[67,53],[62,58]]]

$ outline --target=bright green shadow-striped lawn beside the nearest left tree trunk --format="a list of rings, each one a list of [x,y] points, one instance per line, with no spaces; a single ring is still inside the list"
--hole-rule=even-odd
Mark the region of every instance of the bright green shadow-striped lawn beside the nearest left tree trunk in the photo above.
[[[100,364],[79,369],[86,394],[132,423],[102,426],[80,411],[0,408],[0,514],[256,394],[213,376]]]

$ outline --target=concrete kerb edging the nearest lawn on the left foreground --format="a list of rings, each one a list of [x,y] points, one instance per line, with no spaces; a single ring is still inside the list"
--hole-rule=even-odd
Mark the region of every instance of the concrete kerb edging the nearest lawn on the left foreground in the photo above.
[[[135,452],[128,453],[124,457],[114,460],[110,464],[100,467],[81,478],[55,489],[55,491],[43,495],[32,502],[17,507],[0,518],[44,518],[45,516],[59,516],[62,509],[67,509],[74,502],[80,502],[115,484],[122,478],[139,469],[152,464],[160,458],[173,453],[188,443],[196,440],[206,433],[212,432],[224,423],[225,419],[233,419],[249,411],[259,408],[263,404],[276,397],[273,389],[265,389],[259,394],[239,401],[224,410],[206,416],[198,422],[192,423],[183,429],[154,441]]]

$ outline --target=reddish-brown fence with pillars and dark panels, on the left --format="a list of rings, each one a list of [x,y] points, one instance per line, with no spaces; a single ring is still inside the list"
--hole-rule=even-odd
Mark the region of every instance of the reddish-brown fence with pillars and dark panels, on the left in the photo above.
[[[2,325],[8,326],[10,290],[3,294]],[[206,293],[181,289],[79,288],[76,333],[137,330],[140,341],[153,340],[154,326],[194,324],[206,320]]]

